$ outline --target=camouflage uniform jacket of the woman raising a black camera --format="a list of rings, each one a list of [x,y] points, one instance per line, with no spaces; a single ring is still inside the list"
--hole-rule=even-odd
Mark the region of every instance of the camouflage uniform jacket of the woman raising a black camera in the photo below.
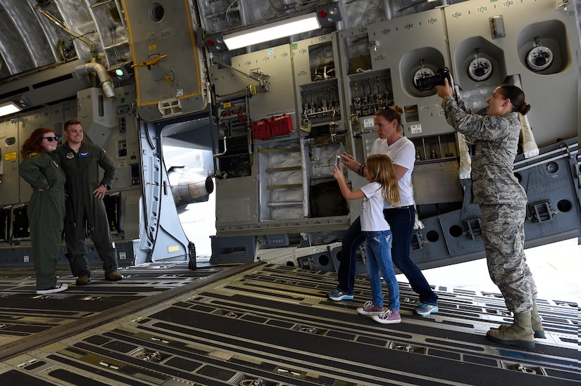
[[[444,98],[446,121],[475,143],[472,160],[472,193],[475,204],[526,205],[527,195],[513,173],[518,148],[518,112],[473,115],[463,101]]]

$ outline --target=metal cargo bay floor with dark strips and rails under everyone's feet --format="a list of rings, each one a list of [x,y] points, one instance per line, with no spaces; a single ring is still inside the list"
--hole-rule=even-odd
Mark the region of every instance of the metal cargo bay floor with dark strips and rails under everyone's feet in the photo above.
[[[332,302],[333,272],[275,264],[150,264],[124,280],[36,295],[34,272],[0,270],[2,385],[560,385],[581,382],[577,302],[539,299],[535,349],[496,345],[511,317],[498,293],[436,286],[439,312],[415,316],[400,283],[401,323]],[[100,275],[99,275],[100,274]],[[32,275],[32,276],[31,276]],[[385,289],[387,293],[387,289]]]

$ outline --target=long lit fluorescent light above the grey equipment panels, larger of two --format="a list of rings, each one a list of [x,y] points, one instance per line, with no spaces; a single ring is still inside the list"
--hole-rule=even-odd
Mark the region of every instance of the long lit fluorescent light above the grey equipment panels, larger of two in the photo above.
[[[281,20],[268,25],[261,25],[246,31],[235,32],[224,36],[224,43],[229,50],[235,50],[253,44],[263,43],[302,32],[318,30],[320,22],[317,13],[309,13],[297,18]]]

